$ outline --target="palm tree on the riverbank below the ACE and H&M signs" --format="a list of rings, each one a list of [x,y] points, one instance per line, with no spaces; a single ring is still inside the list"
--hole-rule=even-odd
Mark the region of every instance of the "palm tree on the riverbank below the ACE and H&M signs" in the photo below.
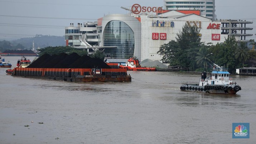
[[[197,57],[196,58],[196,61],[197,61],[197,64],[198,65],[203,65],[204,68],[206,68],[206,71],[207,71],[207,66],[208,64],[207,63],[212,63],[212,55],[209,54],[209,51],[208,51],[208,47],[203,45],[199,52],[197,53]]]

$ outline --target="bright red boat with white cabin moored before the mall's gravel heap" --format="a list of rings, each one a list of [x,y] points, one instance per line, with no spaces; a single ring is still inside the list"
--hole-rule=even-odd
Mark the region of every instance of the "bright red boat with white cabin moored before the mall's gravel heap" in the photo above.
[[[125,63],[125,66],[120,65],[119,68],[131,71],[156,71],[156,68],[141,67],[139,60],[135,58],[129,58]]]

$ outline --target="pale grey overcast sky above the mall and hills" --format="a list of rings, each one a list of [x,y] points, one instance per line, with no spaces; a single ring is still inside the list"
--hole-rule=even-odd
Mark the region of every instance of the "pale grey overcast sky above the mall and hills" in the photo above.
[[[256,39],[256,0],[215,0],[217,19],[241,19],[253,21],[246,27]],[[0,0],[0,39],[65,35],[70,23],[97,21],[107,14],[127,14],[120,7],[164,6],[163,0]]]

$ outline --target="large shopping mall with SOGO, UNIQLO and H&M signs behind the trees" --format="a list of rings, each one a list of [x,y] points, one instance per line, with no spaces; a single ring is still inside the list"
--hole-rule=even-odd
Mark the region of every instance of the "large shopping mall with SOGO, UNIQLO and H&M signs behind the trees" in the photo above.
[[[236,41],[248,41],[246,24],[242,20],[212,20],[201,16],[200,10],[162,10],[161,7],[145,7],[134,4],[130,13],[110,14],[95,22],[70,24],[66,29],[66,45],[87,49],[100,49],[110,58],[128,59],[136,56],[161,60],[157,54],[163,44],[176,40],[175,37],[187,24],[196,26],[205,43],[222,43],[229,36]]]

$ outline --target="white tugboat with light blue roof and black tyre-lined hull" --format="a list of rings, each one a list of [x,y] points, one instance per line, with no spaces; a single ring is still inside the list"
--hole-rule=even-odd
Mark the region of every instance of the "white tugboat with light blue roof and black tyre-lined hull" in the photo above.
[[[192,91],[197,93],[212,93],[212,94],[236,94],[241,90],[241,86],[233,83],[230,73],[223,66],[213,65],[211,76],[203,72],[199,84],[182,84],[182,91]]]

